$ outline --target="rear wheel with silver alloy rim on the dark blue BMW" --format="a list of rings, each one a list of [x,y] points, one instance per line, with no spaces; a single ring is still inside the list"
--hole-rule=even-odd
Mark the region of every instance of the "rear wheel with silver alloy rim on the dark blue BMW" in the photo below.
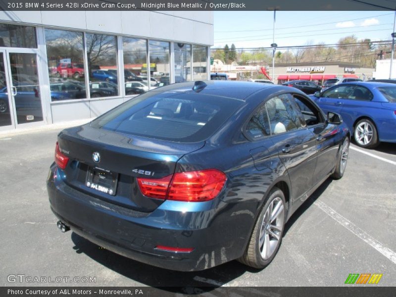
[[[250,267],[266,267],[279,250],[286,221],[286,202],[283,192],[273,188],[257,217],[249,243],[238,260]],[[274,224],[272,224],[275,222]]]

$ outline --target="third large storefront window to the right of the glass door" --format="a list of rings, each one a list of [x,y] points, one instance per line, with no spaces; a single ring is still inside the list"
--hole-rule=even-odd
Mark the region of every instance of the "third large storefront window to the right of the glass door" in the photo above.
[[[125,79],[125,94],[137,94],[139,90],[131,90],[127,82],[141,82],[138,84],[142,93],[148,90],[147,82],[147,41],[144,39],[136,39],[123,37],[122,49],[124,54],[124,79]],[[152,78],[150,85],[154,86],[157,81]],[[139,93],[140,94],[140,93]]]

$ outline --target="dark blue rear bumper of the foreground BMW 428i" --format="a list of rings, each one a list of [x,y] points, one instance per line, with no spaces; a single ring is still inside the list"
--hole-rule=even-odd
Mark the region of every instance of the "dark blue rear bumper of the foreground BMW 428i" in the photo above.
[[[165,201],[152,212],[140,212],[77,191],[57,173],[51,166],[47,189],[59,220],[100,247],[171,270],[203,270],[242,256],[258,207],[258,202],[226,203],[216,198]],[[194,250],[173,252],[156,246]]]

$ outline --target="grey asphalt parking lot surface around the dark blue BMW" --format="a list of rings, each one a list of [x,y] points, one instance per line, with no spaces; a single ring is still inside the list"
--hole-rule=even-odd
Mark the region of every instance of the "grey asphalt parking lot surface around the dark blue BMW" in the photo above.
[[[293,215],[267,268],[232,261],[181,273],[127,259],[56,228],[45,181],[58,132],[0,134],[2,286],[344,286],[350,273],[380,273],[377,286],[396,285],[396,145],[352,145],[344,178],[326,181]],[[69,281],[9,282],[9,275]],[[70,282],[74,277],[96,282]]]

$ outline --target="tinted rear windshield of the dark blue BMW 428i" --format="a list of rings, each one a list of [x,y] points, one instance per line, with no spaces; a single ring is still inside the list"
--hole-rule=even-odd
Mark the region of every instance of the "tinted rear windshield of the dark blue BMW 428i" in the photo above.
[[[91,122],[91,126],[128,135],[193,143],[211,136],[242,104],[238,99],[195,93],[146,94],[103,114]]]

